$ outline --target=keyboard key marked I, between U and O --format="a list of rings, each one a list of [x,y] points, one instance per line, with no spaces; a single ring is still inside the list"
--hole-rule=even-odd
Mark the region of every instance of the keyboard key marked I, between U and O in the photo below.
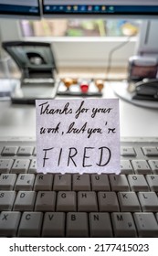
[[[110,175],[110,182],[112,191],[130,190],[127,178],[124,175]]]

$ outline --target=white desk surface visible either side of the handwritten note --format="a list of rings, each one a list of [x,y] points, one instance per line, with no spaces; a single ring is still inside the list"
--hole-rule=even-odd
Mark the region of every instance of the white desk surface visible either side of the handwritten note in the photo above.
[[[107,83],[104,98],[116,98]],[[61,99],[61,98],[60,98]],[[120,100],[121,136],[158,136],[158,110],[134,106]],[[36,136],[36,109],[33,105],[13,105],[0,101],[0,136]]]

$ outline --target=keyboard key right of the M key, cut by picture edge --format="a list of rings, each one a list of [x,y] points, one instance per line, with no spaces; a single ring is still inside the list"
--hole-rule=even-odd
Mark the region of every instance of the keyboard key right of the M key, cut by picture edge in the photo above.
[[[133,214],[139,237],[158,237],[158,224],[153,212]]]

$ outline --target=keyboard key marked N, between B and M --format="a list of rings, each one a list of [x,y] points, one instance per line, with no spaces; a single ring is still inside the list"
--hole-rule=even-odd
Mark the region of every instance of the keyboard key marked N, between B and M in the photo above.
[[[90,237],[106,238],[113,237],[111,219],[108,212],[90,212]]]

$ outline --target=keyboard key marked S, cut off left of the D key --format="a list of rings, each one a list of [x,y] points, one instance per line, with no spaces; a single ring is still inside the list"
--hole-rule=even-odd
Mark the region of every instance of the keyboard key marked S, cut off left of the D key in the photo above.
[[[0,211],[12,210],[15,197],[15,191],[0,191]]]

